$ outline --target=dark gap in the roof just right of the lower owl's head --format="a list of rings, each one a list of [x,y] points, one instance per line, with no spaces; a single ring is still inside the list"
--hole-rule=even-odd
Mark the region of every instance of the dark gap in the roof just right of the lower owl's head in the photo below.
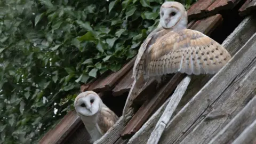
[[[112,91],[105,92],[104,96],[102,97],[103,103],[110,108],[114,113],[120,117],[122,116],[123,108],[127,99],[129,92],[125,92],[122,95],[114,97],[112,95]]]

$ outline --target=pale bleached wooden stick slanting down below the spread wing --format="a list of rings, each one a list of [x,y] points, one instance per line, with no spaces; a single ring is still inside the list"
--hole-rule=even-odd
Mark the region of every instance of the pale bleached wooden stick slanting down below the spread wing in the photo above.
[[[164,113],[159,118],[155,129],[150,134],[150,137],[147,142],[148,144],[158,143],[167,123],[169,123],[169,121],[174,113],[174,110],[177,108],[183,94],[187,90],[190,80],[191,80],[191,77],[187,76],[177,86],[176,90],[174,91],[174,93],[171,96],[171,99],[170,99],[168,105],[166,106],[166,108],[164,110]]]

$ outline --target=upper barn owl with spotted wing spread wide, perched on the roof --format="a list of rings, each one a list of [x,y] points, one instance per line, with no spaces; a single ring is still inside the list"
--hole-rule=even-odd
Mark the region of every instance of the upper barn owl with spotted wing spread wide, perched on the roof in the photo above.
[[[165,2],[159,14],[163,29],[141,44],[133,66],[134,82],[123,109],[125,118],[148,79],[160,83],[165,74],[215,74],[231,59],[229,52],[212,38],[187,29],[187,12],[181,3]]]

